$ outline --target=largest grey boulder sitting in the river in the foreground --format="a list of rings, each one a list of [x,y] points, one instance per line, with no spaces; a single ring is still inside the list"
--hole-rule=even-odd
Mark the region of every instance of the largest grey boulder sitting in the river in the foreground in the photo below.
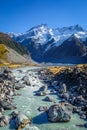
[[[50,122],[68,122],[71,119],[71,116],[58,104],[52,105],[47,111],[47,115]]]

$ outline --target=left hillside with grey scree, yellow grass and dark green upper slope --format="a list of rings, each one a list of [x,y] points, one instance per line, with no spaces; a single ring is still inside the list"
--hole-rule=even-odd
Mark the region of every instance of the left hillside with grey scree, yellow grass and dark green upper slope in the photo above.
[[[29,52],[12,40],[7,34],[0,33],[0,63],[29,63]]]

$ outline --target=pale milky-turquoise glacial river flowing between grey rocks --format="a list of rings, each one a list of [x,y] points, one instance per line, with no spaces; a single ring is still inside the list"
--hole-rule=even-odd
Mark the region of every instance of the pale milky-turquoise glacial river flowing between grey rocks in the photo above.
[[[39,106],[50,106],[53,103],[42,101],[44,96],[35,96],[35,91],[43,85],[42,81],[38,77],[38,67],[25,67],[20,68],[23,72],[20,73],[19,68],[14,69],[13,74],[17,80],[20,80],[22,77],[29,76],[31,86],[26,86],[25,88],[18,91],[20,96],[14,97],[14,104],[17,106],[17,110],[26,114],[32,119],[32,123],[27,125],[23,130],[86,130],[86,128],[77,127],[76,124],[85,123],[84,120],[80,119],[77,114],[71,115],[71,121],[68,123],[50,123],[47,120],[47,115],[45,112],[39,112],[37,109]],[[55,101],[59,101],[57,94],[54,93],[51,95]],[[12,111],[6,111],[6,114],[9,115]],[[14,130],[10,126],[2,127],[0,130]]]

